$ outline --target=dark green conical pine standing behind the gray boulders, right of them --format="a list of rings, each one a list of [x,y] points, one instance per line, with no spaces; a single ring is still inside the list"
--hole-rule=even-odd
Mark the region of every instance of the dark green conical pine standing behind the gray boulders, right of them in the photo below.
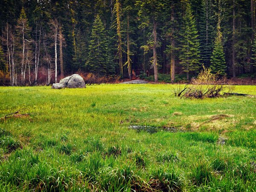
[[[107,72],[108,44],[106,42],[105,28],[99,15],[96,15],[93,22],[90,38],[89,56],[85,63],[85,68],[88,72],[105,75]]]

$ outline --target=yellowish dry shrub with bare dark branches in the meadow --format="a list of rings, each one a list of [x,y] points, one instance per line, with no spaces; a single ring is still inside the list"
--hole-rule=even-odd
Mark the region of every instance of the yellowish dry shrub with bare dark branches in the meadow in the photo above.
[[[221,93],[226,90],[231,93],[234,86],[230,85],[226,76],[220,76],[219,73],[211,73],[210,68],[205,68],[198,74],[197,78],[193,78],[190,84],[187,84],[182,90],[179,88],[174,93],[180,98],[204,99],[221,96]]]

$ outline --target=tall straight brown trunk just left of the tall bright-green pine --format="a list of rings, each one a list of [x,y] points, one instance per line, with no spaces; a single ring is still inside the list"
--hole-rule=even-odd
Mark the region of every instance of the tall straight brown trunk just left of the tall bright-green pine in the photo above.
[[[171,13],[171,21],[172,23],[174,23],[174,7],[172,6],[172,13]],[[173,37],[174,36],[174,29],[173,29],[173,26],[172,26],[172,36],[171,36],[171,71],[170,71],[170,74],[171,74],[171,82],[173,83],[174,80],[175,80],[175,54],[174,54],[174,47],[175,47],[175,38]]]

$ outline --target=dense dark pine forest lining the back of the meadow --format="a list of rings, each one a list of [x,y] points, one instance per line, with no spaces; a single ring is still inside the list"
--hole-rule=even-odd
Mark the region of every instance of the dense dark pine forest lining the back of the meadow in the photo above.
[[[255,0],[0,0],[0,83],[255,76]]]

